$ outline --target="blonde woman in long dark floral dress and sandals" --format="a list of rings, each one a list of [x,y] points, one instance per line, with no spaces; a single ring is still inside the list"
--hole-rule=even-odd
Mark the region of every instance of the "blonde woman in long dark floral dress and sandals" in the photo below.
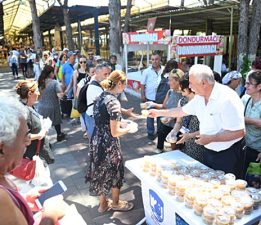
[[[106,90],[95,101],[95,129],[91,139],[89,169],[86,175],[90,182],[90,194],[98,195],[99,212],[112,208],[116,211],[128,211],[133,204],[119,200],[123,185],[124,165],[119,137],[129,129],[121,123],[121,105],[117,95],[126,86],[126,75],[122,71],[113,71],[101,85]],[[108,194],[112,194],[112,201]]]

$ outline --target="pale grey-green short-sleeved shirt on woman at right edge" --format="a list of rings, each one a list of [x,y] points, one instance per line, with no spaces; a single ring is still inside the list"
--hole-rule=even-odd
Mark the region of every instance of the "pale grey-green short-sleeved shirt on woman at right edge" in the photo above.
[[[246,103],[248,99],[250,98],[249,95],[244,95],[242,97],[242,102],[244,106],[246,106]],[[247,103],[247,107],[245,109],[245,117],[251,118],[251,119],[261,119],[261,101],[256,102],[253,105],[252,98]],[[253,148],[257,150],[258,152],[261,152],[261,129],[250,124],[246,124],[246,146]]]

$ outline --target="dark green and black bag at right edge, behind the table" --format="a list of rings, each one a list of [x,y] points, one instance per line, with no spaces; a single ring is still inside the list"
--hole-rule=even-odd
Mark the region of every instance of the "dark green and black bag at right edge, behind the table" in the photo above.
[[[261,187],[261,164],[251,162],[247,168],[246,181],[249,186],[260,188]]]

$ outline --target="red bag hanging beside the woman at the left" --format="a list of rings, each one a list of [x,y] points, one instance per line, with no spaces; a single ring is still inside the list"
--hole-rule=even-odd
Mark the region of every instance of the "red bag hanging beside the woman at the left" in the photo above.
[[[22,180],[32,180],[35,175],[36,162],[23,158],[20,165],[10,171],[13,176]]]

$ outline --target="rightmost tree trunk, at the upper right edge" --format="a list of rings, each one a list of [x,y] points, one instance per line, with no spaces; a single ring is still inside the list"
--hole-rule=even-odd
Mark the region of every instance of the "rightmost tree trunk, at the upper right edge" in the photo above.
[[[249,31],[249,48],[248,59],[253,62],[256,58],[256,52],[258,48],[260,38],[260,26],[261,26],[261,1],[254,0],[252,3],[252,18],[250,22]]]

